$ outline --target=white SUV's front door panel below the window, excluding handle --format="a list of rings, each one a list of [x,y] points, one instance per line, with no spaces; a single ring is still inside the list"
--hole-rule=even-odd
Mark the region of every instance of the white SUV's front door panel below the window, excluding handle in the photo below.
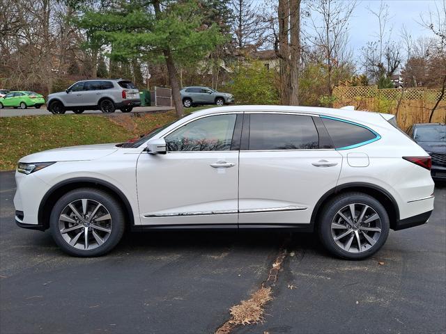
[[[237,151],[142,153],[137,184],[143,225],[237,224]]]

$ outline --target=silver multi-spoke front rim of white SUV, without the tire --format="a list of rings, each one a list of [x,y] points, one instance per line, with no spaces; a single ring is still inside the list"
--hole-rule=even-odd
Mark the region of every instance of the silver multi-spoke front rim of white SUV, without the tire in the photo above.
[[[70,202],[59,215],[59,232],[70,246],[91,250],[104,244],[112,234],[109,210],[96,200]]]

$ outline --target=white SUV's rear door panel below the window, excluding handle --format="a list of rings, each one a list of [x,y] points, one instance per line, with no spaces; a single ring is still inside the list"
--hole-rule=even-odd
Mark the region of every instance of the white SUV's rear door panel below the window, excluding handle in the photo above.
[[[313,165],[321,160],[336,165]],[[240,152],[238,223],[309,223],[316,202],[336,186],[341,164],[335,150]]]

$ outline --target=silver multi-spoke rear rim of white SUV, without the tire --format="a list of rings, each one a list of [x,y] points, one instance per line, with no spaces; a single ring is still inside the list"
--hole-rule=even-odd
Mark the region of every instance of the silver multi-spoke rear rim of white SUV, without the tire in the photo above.
[[[380,216],[373,207],[352,203],[334,215],[331,232],[339,248],[348,253],[362,253],[376,244],[382,228]]]

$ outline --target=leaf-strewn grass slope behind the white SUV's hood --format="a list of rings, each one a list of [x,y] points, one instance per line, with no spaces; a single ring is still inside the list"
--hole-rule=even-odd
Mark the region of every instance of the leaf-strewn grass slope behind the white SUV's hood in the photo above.
[[[0,170],[25,155],[72,145],[118,143],[176,120],[174,111],[132,115],[54,115],[0,118]]]

